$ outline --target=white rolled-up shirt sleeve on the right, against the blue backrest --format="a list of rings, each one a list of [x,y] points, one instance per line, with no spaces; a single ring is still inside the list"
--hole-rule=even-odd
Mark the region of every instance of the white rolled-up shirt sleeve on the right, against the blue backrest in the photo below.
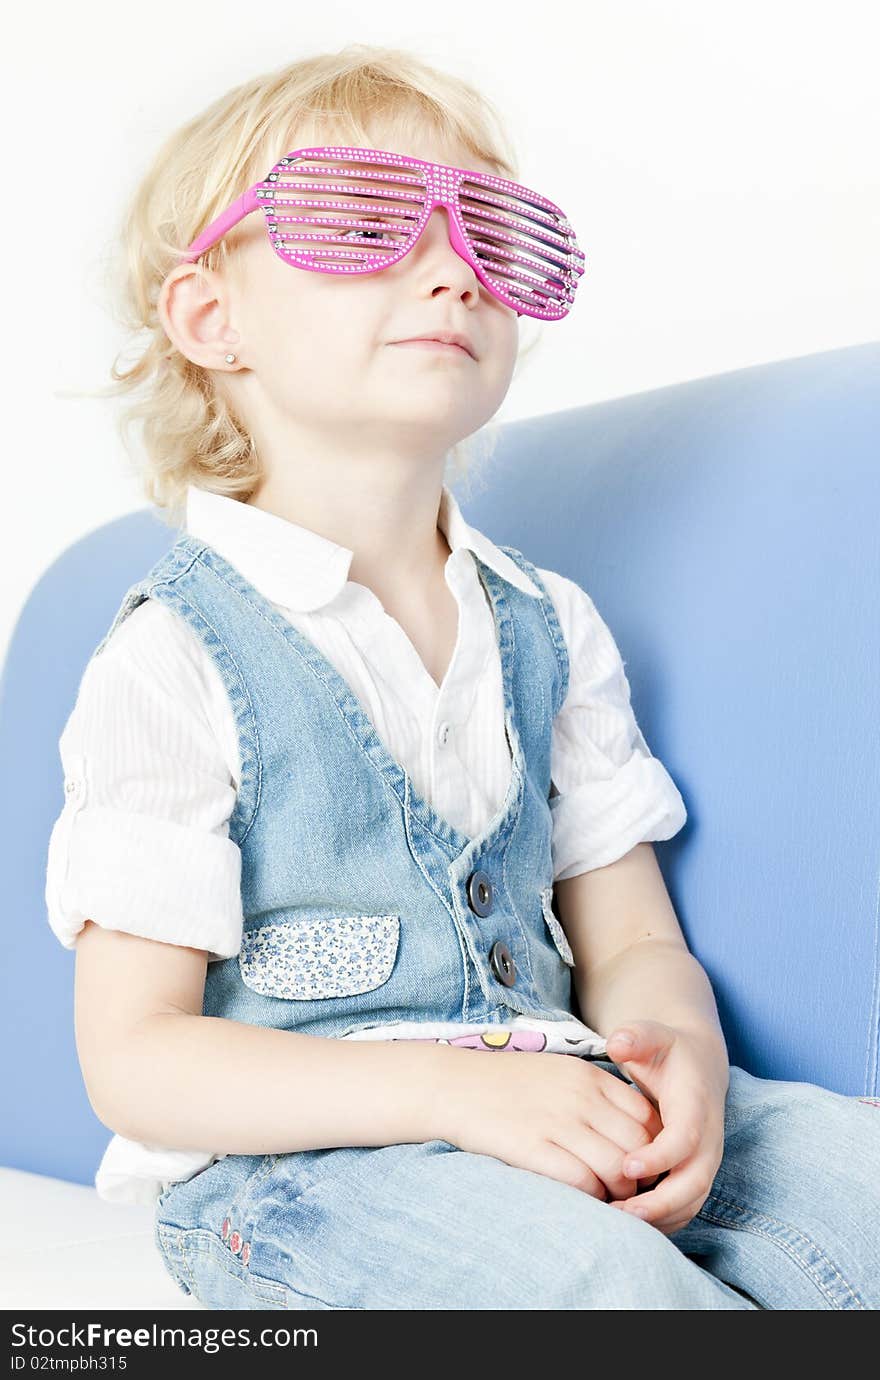
[[[570,682],[552,733],[554,880],[606,867],[687,821],[681,793],[636,722],[611,632],[572,580],[541,571],[566,638]]]

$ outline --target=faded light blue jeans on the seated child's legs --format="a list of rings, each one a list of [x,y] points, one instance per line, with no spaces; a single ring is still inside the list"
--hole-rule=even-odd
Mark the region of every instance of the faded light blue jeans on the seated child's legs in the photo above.
[[[731,1065],[724,1158],[674,1236],[430,1140],[228,1155],[160,1196],[156,1243],[217,1310],[877,1308],[880,1105]]]

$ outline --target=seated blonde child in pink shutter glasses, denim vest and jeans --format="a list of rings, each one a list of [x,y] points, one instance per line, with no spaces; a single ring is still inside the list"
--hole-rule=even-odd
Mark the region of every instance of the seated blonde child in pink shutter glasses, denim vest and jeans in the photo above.
[[[583,266],[488,103],[361,46],[258,77],[127,250],[185,529],[59,744],[102,1196],[215,1310],[876,1308],[880,1112],[728,1065],[614,639],[447,483]]]

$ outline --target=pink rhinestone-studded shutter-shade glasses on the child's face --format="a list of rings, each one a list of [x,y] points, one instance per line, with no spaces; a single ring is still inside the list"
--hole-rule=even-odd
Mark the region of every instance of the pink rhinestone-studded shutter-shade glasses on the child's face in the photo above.
[[[418,172],[425,178],[425,203],[422,206],[418,224],[412,232],[411,240],[404,246],[404,248],[397,254],[375,255],[363,250],[364,259],[367,261],[363,266],[359,265],[339,265],[334,268],[330,264],[310,261],[310,255],[305,250],[287,250],[281,243],[283,235],[279,233],[276,204],[281,203],[281,197],[277,197],[277,182],[288,168],[291,163],[295,163],[303,157],[338,157],[343,160],[359,159],[363,161],[382,163],[385,167],[400,167],[401,174],[382,174],[382,182],[406,181],[407,172]],[[334,171],[332,168],[328,171]],[[335,170],[335,175],[345,178],[345,174],[350,170]],[[359,174],[360,175],[360,174]],[[379,174],[377,174],[379,177]],[[557,277],[561,283],[561,290],[556,293],[559,301],[552,302],[550,306],[542,308],[531,302],[523,302],[521,298],[512,297],[497,279],[491,279],[486,270],[486,264],[480,261],[472,251],[468,240],[468,229],[463,221],[462,208],[458,200],[458,189],[465,178],[470,184],[477,184],[487,192],[498,192],[506,196],[517,197],[526,201],[530,207],[530,218],[537,221],[537,228],[543,222],[548,239],[546,255],[550,261],[556,259],[559,262]],[[284,186],[284,184],[281,184]],[[332,204],[332,203],[331,203]],[[343,145],[324,144],[314,145],[308,149],[294,149],[292,153],[284,155],[283,159],[273,166],[272,171],[263,178],[262,182],[255,182],[252,186],[243,192],[241,196],[229,206],[221,215],[218,215],[211,224],[199,235],[192,244],[188,246],[186,251],[181,255],[181,264],[194,262],[200,254],[211,248],[223,235],[228,233],[233,226],[239,225],[246,215],[252,211],[262,210],[266,219],[266,232],[269,235],[269,243],[274,253],[286,264],[292,268],[303,268],[316,273],[377,273],[383,268],[389,268],[392,264],[397,264],[410,250],[414,247],[419,236],[422,235],[428,219],[432,215],[436,206],[444,206],[448,213],[448,228],[450,228],[450,241],[452,248],[465,262],[470,264],[474,273],[497,297],[499,301],[505,302],[506,306],[512,306],[517,316],[534,316],[538,320],[554,322],[561,320],[568,315],[575,298],[575,288],[578,286],[578,277],[583,273],[583,261],[586,255],[578,247],[575,233],[554,201],[548,200],[548,197],[541,196],[538,192],[532,192],[530,188],[523,186],[519,182],[510,182],[506,178],[492,177],[488,172],[474,172],[470,168],[451,167],[446,163],[426,163],[422,159],[408,157],[401,153],[392,153],[388,149],[356,149]],[[491,218],[491,213],[490,218]],[[508,224],[510,228],[519,229],[517,224],[510,218],[505,218],[503,214],[494,217],[502,226]],[[284,217],[281,217],[284,219]],[[288,217],[287,219],[298,219],[298,217]],[[497,237],[505,237],[503,230],[498,232]],[[559,241],[559,243],[557,243]],[[323,240],[327,244],[327,237]],[[334,241],[330,241],[334,243]],[[349,241],[350,243],[350,241]],[[510,241],[516,246],[516,240]],[[559,258],[561,255],[564,258]],[[513,262],[517,262],[517,255],[512,254]],[[527,262],[520,259],[520,262]],[[514,277],[523,279],[524,283],[528,280],[524,275],[517,273],[512,269]]]

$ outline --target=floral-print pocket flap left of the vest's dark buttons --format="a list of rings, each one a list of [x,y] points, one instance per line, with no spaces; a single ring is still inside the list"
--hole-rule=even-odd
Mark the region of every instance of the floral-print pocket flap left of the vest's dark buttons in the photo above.
[[[295,916],[246,930],[241,980],[263,996],[356,996],[392,974],[399,915]]]

